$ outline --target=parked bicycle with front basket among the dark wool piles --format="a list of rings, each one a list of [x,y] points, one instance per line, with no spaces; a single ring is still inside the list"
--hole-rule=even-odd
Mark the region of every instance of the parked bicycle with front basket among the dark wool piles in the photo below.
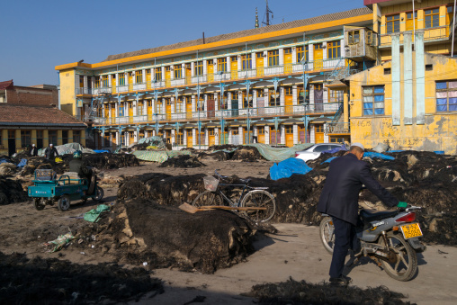
[[[264,222],[273,218],[276,211],[276,202],[271,193],[265,190],[268,187],[249,186],[250,179],[239,179],[242,184],[220,184],[220,181],[228,178],[228,176],[220,175],[218,169],[214,171],[218,176],[215,178],[211,175],[203,177],[203,182],[206,191],[199,193],[193,200],[192,204],[195,207],[201,206],[224,206],[224,202],[230,207],[242,208],[265,208],[264,210],[246,211],[246,215],[255,222]],[[225,193],[219,189],[222,186],[243,186],[243,190],[239,195],[237,202],[232,202]]]

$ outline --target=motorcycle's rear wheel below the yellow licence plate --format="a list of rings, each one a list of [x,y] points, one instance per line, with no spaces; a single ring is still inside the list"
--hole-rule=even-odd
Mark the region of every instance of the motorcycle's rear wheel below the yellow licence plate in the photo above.
[[[387,233],[387,241],[390,250],[394,251],[395,256],[397,256],[397,261],[389,263],[381,260],[382,268],[386,274],[397,281],[407,282],[411,280],[417,273],[416,251],[401,234],[389,232]],[[385,245],[382,237],[380,237],[379,243]]]

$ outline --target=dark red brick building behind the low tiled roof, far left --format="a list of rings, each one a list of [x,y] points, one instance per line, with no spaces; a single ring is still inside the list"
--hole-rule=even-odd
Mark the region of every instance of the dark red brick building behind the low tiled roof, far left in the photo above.
[[[13,79],[0,82],[0,103],[58,105],[56,85],[14,85]]]

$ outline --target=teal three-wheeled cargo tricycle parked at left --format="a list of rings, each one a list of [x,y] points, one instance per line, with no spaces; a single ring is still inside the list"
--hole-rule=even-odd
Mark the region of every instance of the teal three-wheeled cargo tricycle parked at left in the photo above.
[[[57,178],[52,169],[35,170],[33,186],[29,186],[28,191],[38,211],[56,202],[59,211],[67,211],[71,201],[82,200],[85,203],[88,198],[92,198],[99,202],[103,198],[103,188],[97,185],[95,175],[89,183],[87,179],[79,178],[73,172],[64,173]]]

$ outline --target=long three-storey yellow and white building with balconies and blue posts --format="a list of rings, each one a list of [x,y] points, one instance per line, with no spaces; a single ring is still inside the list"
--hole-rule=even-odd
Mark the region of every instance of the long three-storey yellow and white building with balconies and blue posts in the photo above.
[[[348,140],[327,124],[343,120],[336,80],[376,61],[372,18],[363,7],[58,66],[61,109],[92,124],[96,148],[150,135],[174,149]],[[347,57],[351,29],[367,51]]]

